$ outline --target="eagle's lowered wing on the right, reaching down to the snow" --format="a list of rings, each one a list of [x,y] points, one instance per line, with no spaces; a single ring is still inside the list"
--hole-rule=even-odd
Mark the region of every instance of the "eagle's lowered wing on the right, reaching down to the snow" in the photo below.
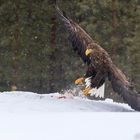
[[[125,75],[115,65],[110,67],[109,80],[113,90],[120,94],[133,109],[140,111],[140,94],[134,90]]]

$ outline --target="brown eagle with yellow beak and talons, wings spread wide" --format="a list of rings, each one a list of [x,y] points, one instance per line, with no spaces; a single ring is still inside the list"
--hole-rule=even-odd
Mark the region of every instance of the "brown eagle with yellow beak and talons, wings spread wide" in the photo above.
[[[88,65],[85,76],[75,81],[76,84],[81,84],[88,79],[88,85],[83,90],[84,95],[90,94],[94,88],[104,86],[105,80],[108,79],[113,90],[120,94],[133,109],[140,111],[140,94],[134,90],[121,70],[113,64],[109,54],[95,43],[77,23],[66,17],[58,6],[56,10],[69,32],[69,40],[74,51]]]

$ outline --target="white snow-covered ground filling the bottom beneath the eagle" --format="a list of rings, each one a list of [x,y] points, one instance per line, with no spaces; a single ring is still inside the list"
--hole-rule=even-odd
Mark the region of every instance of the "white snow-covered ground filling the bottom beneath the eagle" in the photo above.
[[[140,140],[140,113],[110,99],[3,92],[0,140]]]

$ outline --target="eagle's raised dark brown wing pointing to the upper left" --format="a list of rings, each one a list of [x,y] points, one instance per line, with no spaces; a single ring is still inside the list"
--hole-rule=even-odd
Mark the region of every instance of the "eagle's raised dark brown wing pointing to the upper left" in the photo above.
[[[85,55],[88,44],[92,43],[92,38],[74,21],[66,17],[62,11],[56,6],[59,18],[63,21],[69,32],[69,40],[72,43],[74,51],[80,55],[85,63],[90,63],[89,57]]]

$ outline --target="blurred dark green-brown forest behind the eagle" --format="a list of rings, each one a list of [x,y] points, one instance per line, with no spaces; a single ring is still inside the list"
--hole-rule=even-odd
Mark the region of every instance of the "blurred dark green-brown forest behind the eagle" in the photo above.
[[[59,7],[140,91],[140,1],[59,0]],[[67,36],[53,0],[0,0],[0,91],[49,93],[74,85],[86,66]]]

